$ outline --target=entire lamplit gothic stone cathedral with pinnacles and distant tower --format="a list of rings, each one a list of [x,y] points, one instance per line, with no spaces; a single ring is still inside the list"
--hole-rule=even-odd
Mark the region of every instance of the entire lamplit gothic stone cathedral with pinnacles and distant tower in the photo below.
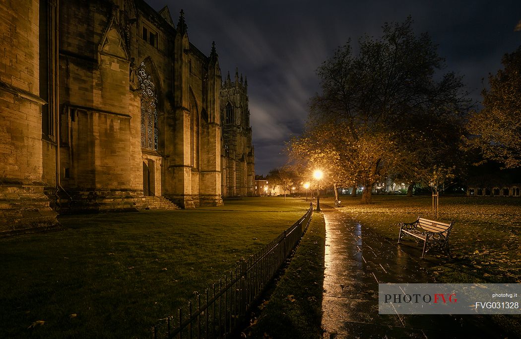
[[[247,80],[222,82],[182,11],[176,25],[143,0],[0,7],[0,232],[253,195]]]

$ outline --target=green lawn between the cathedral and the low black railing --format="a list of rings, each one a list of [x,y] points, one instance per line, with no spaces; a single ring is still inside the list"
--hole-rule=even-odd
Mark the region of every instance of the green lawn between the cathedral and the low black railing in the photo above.
[[[293,224],[307,203],[60,216],[64,231],[0,239],[0,337],[150,337],[196,290]]]

